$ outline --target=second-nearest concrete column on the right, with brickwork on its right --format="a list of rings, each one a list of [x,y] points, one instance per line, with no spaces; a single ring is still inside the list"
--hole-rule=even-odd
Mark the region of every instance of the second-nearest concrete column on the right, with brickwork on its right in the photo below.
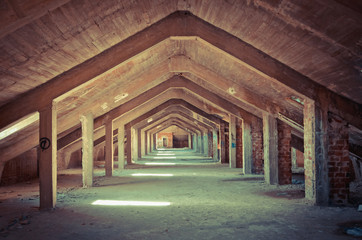
[[[278,184],[278,128],[273,116],[263,114],[264,177],[267,184]]]

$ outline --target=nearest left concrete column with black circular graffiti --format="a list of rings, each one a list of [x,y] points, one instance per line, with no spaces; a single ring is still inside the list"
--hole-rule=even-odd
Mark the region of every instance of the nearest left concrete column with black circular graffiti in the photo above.
[[[39,111],[40,209],[55,207],[57,200],[57,112],[55,105]]]

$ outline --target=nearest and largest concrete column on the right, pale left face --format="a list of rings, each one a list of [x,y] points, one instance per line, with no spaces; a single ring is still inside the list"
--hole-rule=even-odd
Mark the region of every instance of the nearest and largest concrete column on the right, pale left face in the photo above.
[[[328,205],[328,114],[312,101],[304,102],[305,198]]]

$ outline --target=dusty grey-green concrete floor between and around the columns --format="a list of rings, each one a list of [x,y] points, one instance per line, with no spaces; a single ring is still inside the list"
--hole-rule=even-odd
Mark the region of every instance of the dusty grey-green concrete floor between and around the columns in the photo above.
[[[132,176],[135,173],[173,176]],[[39,212],[38,183],[0,188],[4,239],[351,239],[340,224],[362,222],[355,208],[316,207],[303,186],[267,186],[262,176],[205,163],[131,165],[115,176],[96,171],[81,188],[80,169],[63,171],[54,211]],[[96,200],[170,202],[101,206]]]

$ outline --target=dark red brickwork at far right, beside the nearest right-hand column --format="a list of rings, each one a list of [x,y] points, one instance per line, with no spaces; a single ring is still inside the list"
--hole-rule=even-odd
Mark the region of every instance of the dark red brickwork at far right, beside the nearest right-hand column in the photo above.
[[[347,123],[337,115],[328,114],[328,177],[330,204],[348,202],[352,162],[349,159]]]

